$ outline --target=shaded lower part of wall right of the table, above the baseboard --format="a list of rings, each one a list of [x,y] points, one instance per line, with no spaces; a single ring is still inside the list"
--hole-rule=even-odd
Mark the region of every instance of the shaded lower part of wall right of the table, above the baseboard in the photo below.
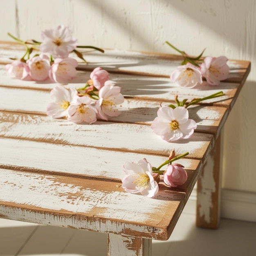
[[[247,81],[225,124],[222,176],[225,188],[256,192],[255,179],[250,178],[255,170],[256,116],[254,108],[249,107],[254,105],[255,95],[256,81]]]

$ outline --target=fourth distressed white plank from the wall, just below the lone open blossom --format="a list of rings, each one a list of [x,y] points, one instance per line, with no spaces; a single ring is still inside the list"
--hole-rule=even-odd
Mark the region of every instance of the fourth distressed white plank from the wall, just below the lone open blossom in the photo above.
[[[210,150],[213,146],[213,135],[194,133],[189,139],[168,142],[155,135],[150,126],[140,124],[97,121],[92,125],[81,125],[64,119],[56,120],[35,115],[12,115],[8,112],[0,113],[0,121],[0,136],[2,137],[141,154],[168,156],[170,150],[175,148],[177,154],[183,154],[186,150],[189,152],[190,158],[204,161],[208,148]],[[127,138],[131,138],[131,140]],[[186,147],[184,147],[184,143]]]

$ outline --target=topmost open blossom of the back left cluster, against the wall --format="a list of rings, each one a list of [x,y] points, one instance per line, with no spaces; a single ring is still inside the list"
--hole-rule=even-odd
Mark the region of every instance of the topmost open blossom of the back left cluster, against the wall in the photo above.
[[[40,45],[42,52],[49,52],[54,58],[67,58],[78,45],[78,40],[72,38],[68,27],[60,25],[56,30],[45,29],[41,33],[43,43]]]

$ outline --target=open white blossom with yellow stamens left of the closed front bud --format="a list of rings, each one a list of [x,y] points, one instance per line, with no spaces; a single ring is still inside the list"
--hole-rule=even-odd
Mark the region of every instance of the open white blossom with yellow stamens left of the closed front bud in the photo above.
[[[152,166],[146,158],[124,164],[125,176],[122,178],[122,187],[126,192],[141,193],[152,198],[158,192],[158,184],[154,180]]]

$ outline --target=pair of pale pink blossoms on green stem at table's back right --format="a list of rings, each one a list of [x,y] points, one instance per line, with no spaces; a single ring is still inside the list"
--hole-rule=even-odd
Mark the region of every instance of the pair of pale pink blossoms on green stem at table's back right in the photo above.
[[[170,43],[166,42],[184,57],[182,65],[177,67],[171,74],[171,80],[174,83],[186,88],[193,88],[196,85],[202,85],[203,79],[210,85],[220,85],[220,81],[229,77],[229,66],[227,57],[205,57],[203,52],[193,58],[185,52],[180,51]]]

